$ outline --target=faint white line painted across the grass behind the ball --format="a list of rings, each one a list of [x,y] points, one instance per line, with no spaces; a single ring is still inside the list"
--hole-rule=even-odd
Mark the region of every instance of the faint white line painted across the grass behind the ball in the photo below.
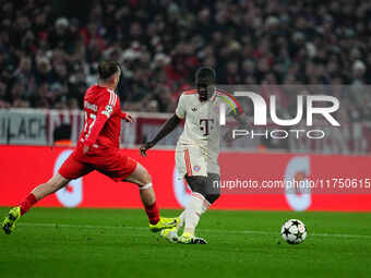
[[[85,229],[132,229],[132,230],[148,230],[145,227],[119,227],[119,226],[94,226],[94,225],[69,225],[69,223],[31,223],[21,222],[19,226],[29,227],[49,227],[49,228],[85,228]],[[237,234],[266,234],[266,235],[279,235],[279,233],[267,231],[254,231],[254,230],[212,230],[212,229],[199,229],[202,232],[211,233],[237,233]],[[311,237],[334,237],[334,238],[367,238],[370,239],[371,234],[347,234],[347,233],[310,233]]]

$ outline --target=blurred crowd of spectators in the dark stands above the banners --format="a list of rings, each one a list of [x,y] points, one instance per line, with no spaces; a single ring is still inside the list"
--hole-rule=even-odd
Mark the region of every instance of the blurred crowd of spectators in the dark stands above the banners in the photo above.
[[[110,59],[122,64],[128,110],[173,111],[206,64],[220,84],[337,85],[343,116],[371,120],[369,1],[105,0],[84,17],[51,2],[0,0],[0,108],[79,109]],[[291,113],[295,94],[277,90]]]

